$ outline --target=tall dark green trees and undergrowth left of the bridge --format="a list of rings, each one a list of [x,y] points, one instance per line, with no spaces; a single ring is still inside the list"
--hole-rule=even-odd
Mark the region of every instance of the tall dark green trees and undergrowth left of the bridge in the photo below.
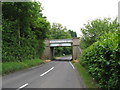
[[[48,37],[49,22],[37,2],[3,2],[2,61],[39,58]]]

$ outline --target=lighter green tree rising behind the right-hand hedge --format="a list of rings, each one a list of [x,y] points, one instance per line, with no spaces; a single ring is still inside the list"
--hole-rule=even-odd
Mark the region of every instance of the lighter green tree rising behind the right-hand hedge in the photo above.
[[[85,27],[81,29],[83,37],[81,38],[81,48],[85,49],[100,39],[104,33],[114,32],[118,28],[117,18],[96,19],[89,21]]]

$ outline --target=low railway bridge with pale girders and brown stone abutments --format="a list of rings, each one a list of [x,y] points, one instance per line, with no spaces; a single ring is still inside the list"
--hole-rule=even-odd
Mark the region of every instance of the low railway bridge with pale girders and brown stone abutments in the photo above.
[[[52,60],[54,57],[54,47],[72,47],[72,60],[78,59],[81,53],[79,38],[45,40],[45,45],[42,59]]]

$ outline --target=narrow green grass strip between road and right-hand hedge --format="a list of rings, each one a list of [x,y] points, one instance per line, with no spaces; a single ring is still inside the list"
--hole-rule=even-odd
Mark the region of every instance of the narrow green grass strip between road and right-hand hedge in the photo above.
[[[80,63],[73,64],[80,73],[80,76],[84,81],[86,88],[98,88],[97,83],[93,80],[93,78],[89,75],[88,71]]]

